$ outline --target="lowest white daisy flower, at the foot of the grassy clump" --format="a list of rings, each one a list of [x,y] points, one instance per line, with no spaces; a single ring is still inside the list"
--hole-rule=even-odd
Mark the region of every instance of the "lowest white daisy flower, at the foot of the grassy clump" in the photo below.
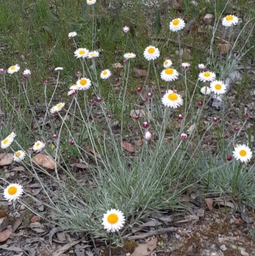
[[[108,232],[119,231],[125,223],[125,217],[123,213],[116,209],[107,211],[107,213],[104,214],[102,220],[102,225]]]

